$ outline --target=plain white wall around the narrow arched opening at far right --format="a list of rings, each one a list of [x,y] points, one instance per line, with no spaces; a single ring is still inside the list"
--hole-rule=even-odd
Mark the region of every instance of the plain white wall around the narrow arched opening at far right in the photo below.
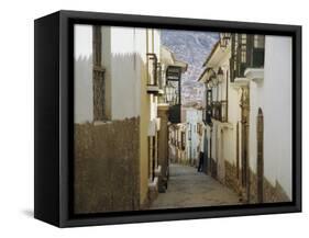
[[[264,80],[251,82],[250,166],[256,171],[256,116],[264,115],[264,175],[291,197],[291,38],[265,37]]]

